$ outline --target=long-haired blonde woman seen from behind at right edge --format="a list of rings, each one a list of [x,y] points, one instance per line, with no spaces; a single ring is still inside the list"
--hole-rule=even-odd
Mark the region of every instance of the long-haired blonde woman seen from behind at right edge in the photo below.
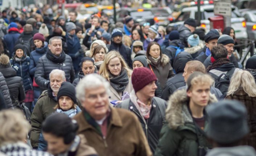
[[[234,73],[226,98],[244,103],[248,111],[247,121],[250,128],[246,144],[256,149],[256,83],[250,72],[237,71]]]

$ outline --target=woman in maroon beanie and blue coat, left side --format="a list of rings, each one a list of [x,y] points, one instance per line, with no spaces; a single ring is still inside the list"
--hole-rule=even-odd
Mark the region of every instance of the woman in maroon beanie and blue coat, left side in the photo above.
[[[29,63],[29,73],[32,77],[36,72],[36,65],[38,60],[46,53],[48,48],[48,43],[45,42],[45,37],[43,34],[36,33],[33,37],[36,49],[30,53],[30,63]],[[40,96],[40,88],[33,79],[33,89],[34,89],[34,104],[36,104],[38,97]]]

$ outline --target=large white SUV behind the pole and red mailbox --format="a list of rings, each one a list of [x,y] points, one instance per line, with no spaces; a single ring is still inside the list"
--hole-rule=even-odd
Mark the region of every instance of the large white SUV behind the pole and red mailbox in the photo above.
[[[243,17],[241,17],[241,14],[239,13],[239,10],[235,6],[231,6],[232,12],[231,12],[231,27],[234,28],[236,33],[236,38],[247,38],[247,31],[246,31],[246,21]],[[202,5],[201,6],[201,26],[205,27],[207,29],[207,32],[210,31],[210,21],[208,20],[209,17],[215,17],[214,15],[214,5]],[[187,7],[183,8],[181,11],[181,14],[177,17],[176,21],[174,23],[169,24],[170,26],[183,24],[184,21],[187,18],[198,18],[198,12],[197,7]]]

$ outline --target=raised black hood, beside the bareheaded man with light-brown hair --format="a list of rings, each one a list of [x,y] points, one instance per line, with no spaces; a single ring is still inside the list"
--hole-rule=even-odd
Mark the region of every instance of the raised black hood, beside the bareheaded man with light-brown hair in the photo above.
[[[193,60],[192,56],[188,52],[180,52],[174,59],[174,70],[176,73],[184,72],[186,63]]]

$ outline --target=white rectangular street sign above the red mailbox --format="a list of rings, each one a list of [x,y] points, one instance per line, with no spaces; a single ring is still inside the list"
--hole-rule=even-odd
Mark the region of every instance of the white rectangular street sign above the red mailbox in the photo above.
[[[231,1],[214,1],[214,14],[231,16]]]

